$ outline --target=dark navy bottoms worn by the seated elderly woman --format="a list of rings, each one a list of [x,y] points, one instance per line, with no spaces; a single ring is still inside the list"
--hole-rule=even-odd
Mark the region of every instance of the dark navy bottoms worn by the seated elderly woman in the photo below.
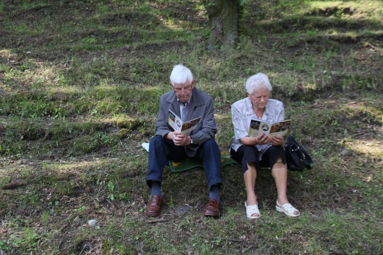
[[[245,146],[242,145],[234,151],[230,149],[230,154],[233,160],[242,165],[242,173],[248,169],[247,164],[255,163],[256,169],[259,167],[270,167],[273,168],[274,164],[277,162],[277,159],[281,157],[282,163],[286,164],[286,156],[284,154],[284,149],[282,145],[271,146],[269,147],[264,154],[262,154],[262,159],[259,161],[259,151],[255,146]]]

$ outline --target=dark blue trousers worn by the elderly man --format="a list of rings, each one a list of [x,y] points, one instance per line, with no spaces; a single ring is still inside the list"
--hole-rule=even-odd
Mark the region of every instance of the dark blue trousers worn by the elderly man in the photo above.
[[[176,146],[161,136],[153,137],[149,143],[149,166],[146,177],[148,186],[152,187],[152,180],[162,183],[163,167],[167,160],[181,161],[186,158],[188,157],[184,146]],[[199,144],[196,155],[190,159],[203,163],[209,191],[213,184],[221,185],[221,152],[216,141],[210,139]]]

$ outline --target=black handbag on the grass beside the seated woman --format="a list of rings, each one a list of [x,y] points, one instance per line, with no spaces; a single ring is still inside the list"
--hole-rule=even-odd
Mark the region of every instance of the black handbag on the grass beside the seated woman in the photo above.
[[[290,171],[303,171],[305,168],[312,168],[313,159],[305,148],[295,141],[291,135],[286,138],[284,153]]]

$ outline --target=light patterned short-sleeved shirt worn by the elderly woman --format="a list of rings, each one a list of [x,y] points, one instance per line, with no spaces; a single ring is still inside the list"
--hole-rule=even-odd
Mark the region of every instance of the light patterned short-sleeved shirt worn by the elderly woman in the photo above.
[[[251,119],[259,118],[257,118],[254,113],[249,97],[238,100],[231,105],[231,118],[234,126],[234,136],[231,149],[236,151],[241,145],[243,145],[241,143],[241,138],[249,136]],[[266,120],[270,123],[284,120],[284,107],[282,102],[276,99],[269,99],[261,120]],[[259,151],[259,160],[261,160],[262,154],[264,154],[270,146],[271,143],[255,145]]]

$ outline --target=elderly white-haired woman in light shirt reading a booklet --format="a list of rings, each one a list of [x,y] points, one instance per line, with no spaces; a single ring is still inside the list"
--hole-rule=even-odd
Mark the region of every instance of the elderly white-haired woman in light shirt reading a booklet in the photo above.
[[[254,191],[259,166],[271,168],[278,193],[275,209],[292,217],[299,216],[299,211],[289,203],[286,195],[288,171],[282,146],[283,136],[270,138],[263,133],[257,137],[248,135],[252,118],[271,123],[284,120],[283,104],[281,101],[269,99],[270,91],[272,87],[267,75],[257,73],[246,81],[247,97],[231,106],[234,137],[230,154],[242,164],[247,193],[246,215],[250,219],[260,217]]]

